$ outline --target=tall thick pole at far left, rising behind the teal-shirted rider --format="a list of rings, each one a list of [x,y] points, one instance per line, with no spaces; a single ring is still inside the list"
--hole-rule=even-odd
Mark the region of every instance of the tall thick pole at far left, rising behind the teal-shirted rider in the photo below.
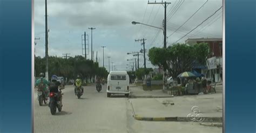
[[[46,71],[45,79],[49,81],[48,73],[48,20],[47,20],[47,0],[45,0],[45,59],[46,59]]]

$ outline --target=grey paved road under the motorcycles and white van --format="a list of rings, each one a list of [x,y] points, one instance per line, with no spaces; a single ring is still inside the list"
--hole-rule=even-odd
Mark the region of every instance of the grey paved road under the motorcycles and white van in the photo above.
[[[220,128],[198,123],[134,120],[127,98],[107,98],[106,85],[100,93],[94,85],[84,91],[77,99],[73,86],[65,86],[63,111],[56,115],[51,115],[48,105],[39,106],[35,92],[35,132],[221,132]]]

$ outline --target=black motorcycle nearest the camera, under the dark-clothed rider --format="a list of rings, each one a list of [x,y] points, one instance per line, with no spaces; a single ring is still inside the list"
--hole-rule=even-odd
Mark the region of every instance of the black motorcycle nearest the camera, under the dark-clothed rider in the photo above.
[[[60,102],[60,98],[62,97],[62,91],[59,90],[58,93],[55,92],[50,92],[50,102],[49,102],[49,107],[51,110],[51,114],[55,115],[56,110],[58,108],[58,111],[62,111],[62,103]]]

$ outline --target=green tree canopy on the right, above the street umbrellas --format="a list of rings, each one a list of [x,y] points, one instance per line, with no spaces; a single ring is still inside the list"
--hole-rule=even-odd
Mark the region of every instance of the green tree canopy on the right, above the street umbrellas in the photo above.
[[[210,48],[207,43],[196,43],[194,45],[180,44],[165,48],[153,47],[149,50],[149,60],[153,65],[167,69],[173,78],[179,73],[191,71],[194,62],[206,64]]]

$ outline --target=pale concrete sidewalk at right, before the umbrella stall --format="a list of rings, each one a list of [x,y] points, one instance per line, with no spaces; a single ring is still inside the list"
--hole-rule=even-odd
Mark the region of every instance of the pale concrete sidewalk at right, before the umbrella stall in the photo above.
[[[218,88],[218,90],[221,88]],[[205,95],[184,95],[172,98],[169,94],[161,90],[143,91],[139,87],[131,87],[131,96],[138,99],[129,99],[134,110],[134,118],[137,120],[156,120],[166,121],[186,121],[187,115],[196,116],[192,112],[193,106],[198,106],[198,113],[204,117],[204,122],[221,122],[222,121],[222,93],[205,94]],[[140,96],[149,96],[153,98],[139,98]],[[157,98],[154,98],[157,97]],[[196,112],[196,113],[197,113]],[[186,119],[186,120],[185,120]]]

